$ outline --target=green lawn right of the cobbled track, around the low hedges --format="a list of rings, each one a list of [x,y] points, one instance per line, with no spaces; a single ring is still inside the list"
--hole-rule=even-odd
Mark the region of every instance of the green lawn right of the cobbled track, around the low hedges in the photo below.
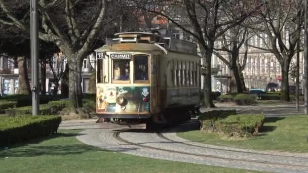
[[[281,118],[265,118],[262,133],[246,140],[222,139],[217,133],[190,131],[178,136],[205,144],[247,148],[255,150],[276,150],[308,152],[308,116],[294,115]]]

